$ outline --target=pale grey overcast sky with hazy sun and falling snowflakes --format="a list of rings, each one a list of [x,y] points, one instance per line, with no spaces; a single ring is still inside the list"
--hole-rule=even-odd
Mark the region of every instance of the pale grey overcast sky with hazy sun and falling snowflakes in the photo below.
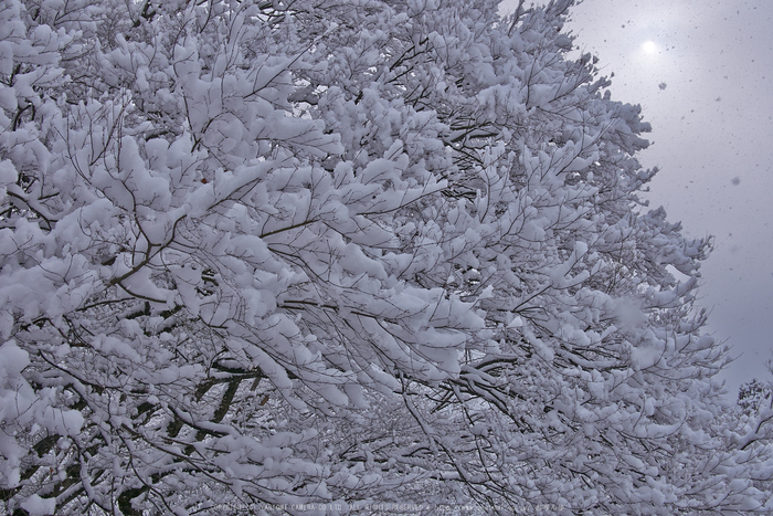
[[[565,29],[653,125],[650,207],[716,238],[700,304],[739,356],[723,375],[734,397],[773,358],[773,1],[585,0]]]

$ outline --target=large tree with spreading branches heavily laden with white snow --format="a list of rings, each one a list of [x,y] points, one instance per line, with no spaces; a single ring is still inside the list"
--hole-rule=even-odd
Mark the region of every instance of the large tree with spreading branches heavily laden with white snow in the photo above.
[[[773,509],[571,3],[0,0],[4,508]]]

